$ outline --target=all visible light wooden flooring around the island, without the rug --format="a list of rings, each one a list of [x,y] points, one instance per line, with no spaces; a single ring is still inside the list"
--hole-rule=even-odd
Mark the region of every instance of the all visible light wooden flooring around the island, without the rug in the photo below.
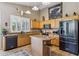
[[[13,51],[17,51],[19,49],[25,49],[29,53],[29,55],[32,56],[31,45],[19,47],[19,48],[12,49],[12,50],[9,50],[9,51],[13,52]],[[8,53],[8,51],[0,50],[0,53],[2,53],[2,52],[7,52]],[[74,54],[70,54],[70,53],[65,52],[65,51],[62,51],[62,50],[59,50],[59,47],[57,47],[57,46],[52,46],[51,47],[51,56],[75,56],[75,55]]]

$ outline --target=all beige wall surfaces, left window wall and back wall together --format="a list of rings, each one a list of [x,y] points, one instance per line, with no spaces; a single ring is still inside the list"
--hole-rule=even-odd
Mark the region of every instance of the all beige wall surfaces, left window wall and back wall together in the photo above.
[[[48,8],[44,8],[40,10],[40,12],[34,12],[31,10],[31,7],[10,4],[10,3],[0,3],[0,14],[2,26],[4,28],[10,29],[10,15],[17,15],[16,8],[20,8],[22,10],[30,10],[32,12],[31,15],[25,15],[26,17],[30,17],[31,19],[42,20],[42,16],[45,16],[46,19],[49,19],[48,16]],[[79,2],[64,2],[63,3],[63,16],[68,13],[72,15],[73,12],[77,12],[79,14]],[[5,27],[5,22],[8,22],[8,27]]]

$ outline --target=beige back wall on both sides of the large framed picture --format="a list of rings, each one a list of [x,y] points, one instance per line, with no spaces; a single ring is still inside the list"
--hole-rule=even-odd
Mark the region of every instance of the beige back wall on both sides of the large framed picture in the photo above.
[[[73,15],[74,11],[79,15],[79,2],[63,2],[62,7],[63,16],[65,16],[66,13],[71,16]],[[46,19],[49,19],[48,8],[40,10],[40,20],[42,20],[42,16],[45,16]]]

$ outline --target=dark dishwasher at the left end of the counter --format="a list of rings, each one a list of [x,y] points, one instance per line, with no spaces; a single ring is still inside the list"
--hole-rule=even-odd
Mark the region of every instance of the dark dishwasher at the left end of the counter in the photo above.
[[[4,37],[4,50],[11,50],[17,48],[17,35],[5,36]]]

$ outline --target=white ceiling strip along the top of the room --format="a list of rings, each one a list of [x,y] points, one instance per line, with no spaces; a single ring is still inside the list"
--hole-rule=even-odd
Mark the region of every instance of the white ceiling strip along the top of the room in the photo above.
[[[50,2],[50,4],[48,5],[43,5],[42,2],[10,2],[10,3],[24,5],[24,6],[31,6],[31,7],[37,6],[39,9],[43,9],[46,7],[51,7],[53,5],[56,5],[59,2]]]

